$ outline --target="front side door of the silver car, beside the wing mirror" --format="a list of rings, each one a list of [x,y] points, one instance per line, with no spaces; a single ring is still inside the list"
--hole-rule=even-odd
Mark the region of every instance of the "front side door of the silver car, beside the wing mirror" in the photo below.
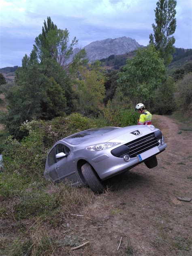
[[[59,179],[67,178],[75,181],[75,164],[73,162],[73,154],[71,150],[63,143],[55,145],[55,155],[62,152],[67,155],[56,159],[55,169],[58,173],[58,177]]]

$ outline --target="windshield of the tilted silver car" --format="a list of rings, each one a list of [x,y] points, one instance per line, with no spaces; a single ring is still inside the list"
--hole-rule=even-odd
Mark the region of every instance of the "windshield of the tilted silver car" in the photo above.
[[[83,132],[78,132],[76,134],[73,134],[69,136],[68,138],[64,139],[67,143],[71,145],[78,145],[82,142],[85,142],[91,138],[94,138],[96,136],[99,136],[101,134],[104,134],[106,132],[111,132],[115,129],[118,129],[118,127],[102,127],[102,128],[93,128],[90,130],[85,130]]]

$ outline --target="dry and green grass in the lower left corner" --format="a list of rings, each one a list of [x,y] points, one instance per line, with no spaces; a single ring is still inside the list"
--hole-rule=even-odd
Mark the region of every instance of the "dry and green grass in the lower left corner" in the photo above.
[[[43,182],[43,177],[42,182],[28,182],[18,173],[0,175],[0,255],[67,255],[70,247],[81,244],[77,233],[58,237],[57,230],[73,231],[71,213],[81,214],[96,195],[87,188]],[[59,253],[61,247],[63,254]]]

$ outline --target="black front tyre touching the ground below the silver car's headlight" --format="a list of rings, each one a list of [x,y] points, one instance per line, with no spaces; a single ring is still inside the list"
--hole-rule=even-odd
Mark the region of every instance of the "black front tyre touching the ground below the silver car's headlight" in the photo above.
[[[100,194],[105,190],[105,187],[99,180],[98,175],[89,163],[83,164],[83,166],[81,166],[81,171],[87,185],[94,193]]]

